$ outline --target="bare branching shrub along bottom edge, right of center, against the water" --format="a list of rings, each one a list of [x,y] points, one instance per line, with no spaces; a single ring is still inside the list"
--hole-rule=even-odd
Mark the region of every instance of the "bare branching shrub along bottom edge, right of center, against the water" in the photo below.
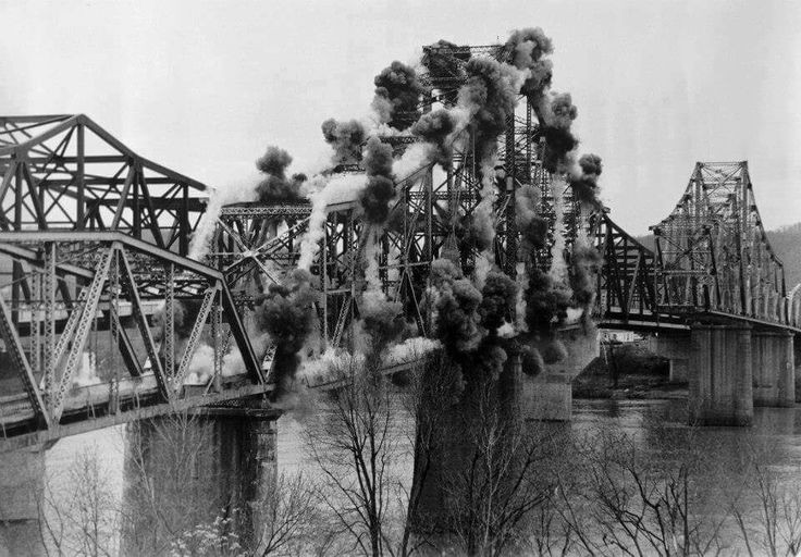
[[[563,490],[562,513],[587,552],[688,556],[724,549],[726,518],[705,520],[694,508],[703,496],[701,451],[665,462],[625,434],[600,431],[580,453],[586,481],[578,494]]]

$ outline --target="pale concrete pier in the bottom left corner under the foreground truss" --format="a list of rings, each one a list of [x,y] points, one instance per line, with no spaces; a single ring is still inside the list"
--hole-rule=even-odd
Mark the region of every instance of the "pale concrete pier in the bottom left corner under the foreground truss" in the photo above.
[[[44,481],[44,449],[0,456],[0,557],[46,555],[39,530]]]

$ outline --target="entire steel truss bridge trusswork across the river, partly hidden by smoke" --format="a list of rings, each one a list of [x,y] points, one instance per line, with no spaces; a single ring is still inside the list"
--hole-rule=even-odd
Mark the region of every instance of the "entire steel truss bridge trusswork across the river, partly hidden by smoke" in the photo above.
[[[505,55],[494,46],[436,53],[454,69],[470,55]],[[464,77],[423,79],[431,94],[409,120],[452,106]],[[553,257],[569,263],[577,245],[603,256],[591,308],[601,326],[686,329],[706,315],[799,332],[798,289],[787,296],[745,162],[699,162],[653,227],[651,250],[543,169],[535,122],[521,97],[498,137],[496,234],[483,252],[459,236],[481,202],[469,140],[445,168],[396,176],[379,231],[362,220],[358,199],[326,207],[311,264],[319,349],[353,341],[371,242],[384,293],[421,336],[430,333],[422,300],[433,260],[451,258],[469,274],[489,258],[522,278],[551,265],[559,235],[565,252]],[[382,140],[398,156],[417,148],[411,136]],[[255,349],[252,313],[258,293],[297,267],[309,202],[224,207],[210,251],[194,261],[189,239],[206,186],[141,158],[85,115],[0,117],[0,450],[271,391],[274,347]],[[540,249],[518,231],[521,188],[535,190],[549,224]]]

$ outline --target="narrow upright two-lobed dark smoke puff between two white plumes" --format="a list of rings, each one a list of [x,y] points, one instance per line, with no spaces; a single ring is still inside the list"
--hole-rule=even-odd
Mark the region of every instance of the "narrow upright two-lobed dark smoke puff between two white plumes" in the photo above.
[[[383,224],[390,215],[390,201],[395,195],[392,162],[392,146],[371,137],[365,148],[367,186],[361,191],[361,206],[365,218],[373,224]]]

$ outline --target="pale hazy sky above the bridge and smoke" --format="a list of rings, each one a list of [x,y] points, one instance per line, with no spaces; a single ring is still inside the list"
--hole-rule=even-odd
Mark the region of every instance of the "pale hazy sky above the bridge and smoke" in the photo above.
[[[366,115],[421,45],[540,26],[624,227],[664,218],[697,160],[747,159],[766,226],[801,221],[801,2],[0,0],[0,21],[1,113],[86,113],[212,186],[270,144],[317,164],[320,123]]]

